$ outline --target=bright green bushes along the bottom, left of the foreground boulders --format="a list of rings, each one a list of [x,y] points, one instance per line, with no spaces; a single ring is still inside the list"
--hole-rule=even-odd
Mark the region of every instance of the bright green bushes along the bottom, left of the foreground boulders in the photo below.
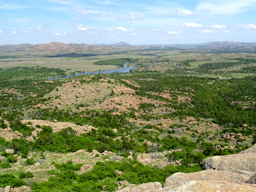
[[[133,166],[136,164],[136,166]],[[57,164],[55,164],[56,166]],[[78,166],[76,164],[75,166]],[[30,186],[33,192],[41,191],[78,191],[78,192],[100,192],[115,191],[118,186],[115,181],[127,180],[130,183],[141,184],[147,182],[161,182],[164,184],[166,177],[175,172],[196,172],[201,170],[201,167],[194,165],[192,168],[187,166],[167,166],[163,169],[155,167],[144,166],[140,162],[128,161],[128,162],[111,162],[106,163],[97,162],[91,171],[78,175],[74,172],[72,163],[68,162],[62,164],[61,168],[57,165],[57,169],[61,170],[57,172],[55,170],[48,171],[49,174],[56,175],[50,177],[48,181],[37,183],[34,182]],[[124,172],[118,176],[115,170]],[[76,182],[74,182],[76,181]]]

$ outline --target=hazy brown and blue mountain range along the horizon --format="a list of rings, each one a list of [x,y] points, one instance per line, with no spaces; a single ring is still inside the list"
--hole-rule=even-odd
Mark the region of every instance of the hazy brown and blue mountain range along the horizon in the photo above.
[[[47,55],[47,54],[64,54],[71,52],[80,53],[97,53],[97,52],[120,52],[120,51],[132,51],[132,50],[146,50],[151,48],[186,48],[191,50],[215,50],[215,51],[237,51],[237,52],[256,52],[256,42],[253,43],[241,43],[241,42],[229,42],[229,41],[214,41],[204,44],[195,45],[130,45],[128,43],[119,42],[116,44],[76,44],[76,43],[58,43],[51,42],[47,44],[18,44],[18,45],[1,45],[1,55]]]

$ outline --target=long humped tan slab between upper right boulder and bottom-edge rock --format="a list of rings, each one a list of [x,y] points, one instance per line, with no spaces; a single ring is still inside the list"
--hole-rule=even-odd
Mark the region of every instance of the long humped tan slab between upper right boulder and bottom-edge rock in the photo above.
[[[231,183],[244,183],[250,177],[230,171],[204,170],[194,173],[174,173],[165,180],[164,187],[173,183],[181,185],[191,180],[225,180]]]

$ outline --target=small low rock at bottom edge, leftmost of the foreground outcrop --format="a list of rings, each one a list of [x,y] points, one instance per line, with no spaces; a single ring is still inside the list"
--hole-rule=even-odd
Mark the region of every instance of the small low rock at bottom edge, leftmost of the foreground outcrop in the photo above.
[[[161,183],[153,182],[153,183],[143,183],[136,187],[126,187],[117,192],[154,192],[156,189],[162,188]]]

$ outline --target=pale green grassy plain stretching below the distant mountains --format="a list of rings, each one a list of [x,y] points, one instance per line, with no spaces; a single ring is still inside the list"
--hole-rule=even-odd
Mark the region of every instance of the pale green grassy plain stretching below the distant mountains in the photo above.
[[[138,62],[131,64],[138,67],[138,71],[181,71],[180,75],[193,75],[193,76],[214,76],[214,77],[234,77],[243,78],[245,76],[254,75],[253,73],[239,73],[241,68],[246,67],[247,64],[239,63],[235,58],[253,58],[255,53],[205,53],[205,52],[186,52],[180,50],[172,51],[140,51],[140,52],[124,52],[122,54],[105,54],[105,55],[82,55],[82,54],[66,54],[58,57],[21,57],[21,58],[8,58],[0,59],[0,68],[13,68],[13,67],[47,67],[47,68],[60,68],[69,73],[77,73],[77,71],[91,72],[99,70],[116,69],[114,65],[93,65],[94,62],[99,60],[133,58],[140,59]],[[161,59],[161,60],[159,60]],[[188,65],[184,65],[188,62]],[[205,63],[216,62],[236,62],[237,64],[232,67],[218,68],[217,70],[202,71],[200,68]],[[248,66],[256,66],[251,63]],[[136,71],[135,70],[135,71]],[[234,73],[233,71],[238,70]],[[218,71],[218,72],[217,72]],[[179,72],[180,73],[180,72]],[[177,75],[177,74],[174,74]]]

